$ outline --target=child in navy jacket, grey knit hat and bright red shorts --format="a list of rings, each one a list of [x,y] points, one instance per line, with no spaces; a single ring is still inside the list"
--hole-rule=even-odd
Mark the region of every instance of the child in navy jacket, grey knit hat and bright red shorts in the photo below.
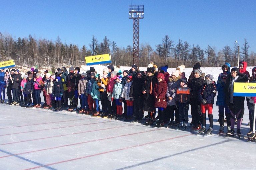
[[[205,83],[200,87],[198,92],[198,100],[201,101],[201,119],[202,119],[202,128],[199,132],[206,131],[206,110],[208,111],[208,118],[210,121],[210,127],[206,133],[212,132],[213,127],[213,116],[212,116],[212,107],[214,104],[214,97],[216,96],[216,86],[215,81],[213,81],[213,75],[207,74],[205,76]]]

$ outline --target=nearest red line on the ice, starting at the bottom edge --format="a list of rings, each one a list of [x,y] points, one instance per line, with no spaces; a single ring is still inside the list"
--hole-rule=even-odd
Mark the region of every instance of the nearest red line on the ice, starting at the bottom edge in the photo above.
[[[182,135],[182,136],[177,136],[177,137],[171,137],[171,138],[167,138],[167,139],[157,140],[157,141],[154,141],[154,142],[149,142],[149,143],[143,143],[143,144],[139,144],[139,145],[129,146],[129,147],[121,148],[121,149],[110,150],[110,151],[106,151],[106,152],[96,153],[96,154],[93,154],[93,155],[88,155],[88,156],[78,157],[78,158],[69,159],[69,160],[65,160],[65,161],[50,163],[50,164],[47,164],[47,165],[44,165],[44,166],[56,165],[56,164],[59,164],[59,163],[74,161],[74,160],[78,160],[78,159],[83,159],[83,158],[88,158],[88,157],[92,157],[92,156],[102,155],[102,154],[106,154],[106,153],[116,152],[116,151],[125,150],[125,149],[129,149],[129,148],[133,148],[133,147],[138,147],[138,146],[144,146],[144,145],[148,145],[148,144],[152,144],[152,143],[162,142],[162,141],[176,139],[176,138],[190,136],[190,135],[194,135],[194,134],[186,134],[186,135]],[[24,169],[24,170],[37,169],[37,168],[41,168],[41,167],[43,167],[43,166],[37,166],[37,167],[33,167],[33,168],[29,168],[29,169]]]

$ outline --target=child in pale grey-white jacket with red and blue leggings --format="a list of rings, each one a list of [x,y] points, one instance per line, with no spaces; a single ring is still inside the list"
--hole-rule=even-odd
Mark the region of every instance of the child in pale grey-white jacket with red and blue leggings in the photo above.
[[[122,98],[125,99],[127,104],[127,111],[126,111],[127,121],[132,119],[132,114],[133,114],[133,98],[129,96],[131,85],[132,85],[132,76],[128,75],[126,79],[126,84],[124,85],[122,96],[121,96]]]

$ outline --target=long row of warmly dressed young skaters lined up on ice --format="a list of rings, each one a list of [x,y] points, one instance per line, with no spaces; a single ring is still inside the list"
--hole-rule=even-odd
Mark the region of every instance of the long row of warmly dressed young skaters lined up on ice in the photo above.
[[[224,120],[227,121],[227,135],[234,135],[234,125],[237,122],[237,134],[241,135],[240,127],[244,113],[244,98],[233,96],[234,82],[247,82],[250,74],[246,72],[246,62],[239,64],[240,69],[234,67],[230,71],[230,64],[222,66],[223,73],[218,77],[217,84],[213,81],[211,74],[202,73],[201,63],[196,63],[190,77],[187,79],[183,70],[184,65],[176,68],[170,75],[167,72],[168,65],[161,66],[156,70],[156,65],[150,63],[147,71],[140,71],[137,65],[132,65],[130,70],[120,70],[109,65],[103,69],[102,76],[93,67],[86,73],[80,74],[80,68],[65,67],[57,69],[55,74],[46,70],[41,77],[37,69],[31,68],[21,78],[19,70],[8,70],[1,79],[4,70],[0,72],[0,88],[5,91],[12,105],[19,105],[20,92],[24,94],[24,107],[41,107],[40,93],[43,91],[45,97],[45,109],[60,110],[68,106],[68,111],[92,116],[109,117],[121,119],[133,123],[141,122],[144,112],[148,112],[146,125],[163,127],[169,124],[178,127],[188,127],[188,110],[191,106],[192,122],[194,130],[211,133],[213,129],[212,109],[214,97],[217,94],[219,107],[220,132],[224,131]],[[252,77],[249,82],[256,81],[256,67],[252,69]],[[22,95],[21,95],[22,96]],[[3,93],[3,99],[5,93]],[[78,109],[78,99],[80,108]],[[101,101],[102,112],[100,112],[99,101]],[[248,97],[249,118],[252,134],[252,120],[255,97]],[[2,98],[1,98],[2,102]],[[33,104],[32,104],[33,103]],[[124,113],[123,106],[124,103]],[[158,116],[156,115],[156,109]],[[226,118],[224,119],[224,111]],[[206,112],[209,118],[209,128],[206,130]],[[175,121],[174,121],[175,113]],[[132,120],[134,116],[134,119]]]

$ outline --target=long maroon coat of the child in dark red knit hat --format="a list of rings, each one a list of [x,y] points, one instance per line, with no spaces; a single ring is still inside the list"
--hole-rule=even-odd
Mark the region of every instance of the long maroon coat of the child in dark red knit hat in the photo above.
[[[166,93],[167,93],[167,84],[166,84],[165,80],[155,84],[153,94],[155,97],[155,107],[156,108],[157,107],[161,107],[161,108],[167,107],[167,101],[165,98]],[[160,99],[160,102],[158,102],[158,99]]]

